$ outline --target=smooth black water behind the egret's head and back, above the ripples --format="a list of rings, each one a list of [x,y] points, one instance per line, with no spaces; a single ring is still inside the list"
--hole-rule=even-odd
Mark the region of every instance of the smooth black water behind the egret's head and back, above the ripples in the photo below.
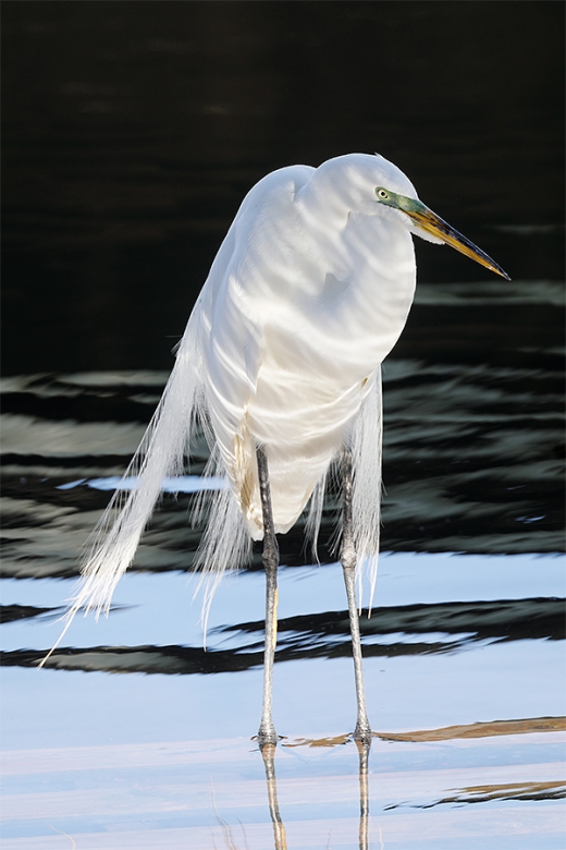
[[[249,187],[354,150],[514,280],[564,280],[561,3],[9,2],[2,28],[3,374],[169,371]]]

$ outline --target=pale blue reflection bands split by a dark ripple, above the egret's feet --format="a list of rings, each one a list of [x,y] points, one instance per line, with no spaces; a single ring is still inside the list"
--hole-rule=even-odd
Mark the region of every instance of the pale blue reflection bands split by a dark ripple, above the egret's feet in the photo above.
[[[556,597],[565,594],[563,557],[384,556],[380,606],[417,602]],[[5,602],[57,604],[71,582],[7,581]],[[73,646],[201,646],[195,579],[184,574],[126,575],[116,609],[98,623],[76,618],[65,643]],[[217,629],[261,618],[263,575],[247,572],[224,582],[214,599],[208,645],[241,638]],[[339,564],[282,568],[281,618],[341,610]],[[52,619],[20,620],[2,628],[4,649],[47,648],[59,633]],[[261,635],[258,635],[260,639]],[[453,635],[451,636],[453,638]],[[406,635],[405,640],[413,640]],[[565,712],[559,641],[479,642],[447,655],[366,659],[368,703],[374,729],[435,728],[453,724]],[[3,670],[3,745],[8,749],[109,742],[249,737],[257,725],[261,669],[207,676],[112,676],[56,670]],[[355,696],[349,658],[278,664],[278,729],[291,736],[350,730]]]

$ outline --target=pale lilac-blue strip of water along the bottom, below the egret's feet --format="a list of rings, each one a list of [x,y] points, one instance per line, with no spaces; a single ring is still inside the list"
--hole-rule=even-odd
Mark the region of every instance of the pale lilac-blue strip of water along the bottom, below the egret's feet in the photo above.
[[[367,784],[328,739],[283,742],[269,779],[245,740],[9,753],[5,847],[559,848],[564,733],[482,732],[376,739]]]

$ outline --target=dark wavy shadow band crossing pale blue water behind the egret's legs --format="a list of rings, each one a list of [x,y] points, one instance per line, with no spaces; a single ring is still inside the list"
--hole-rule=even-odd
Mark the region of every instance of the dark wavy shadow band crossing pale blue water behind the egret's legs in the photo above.
[[[60,616],[62,612],[60,609],[54,614]],[[28,617],[51,619],[54,614],[16,605],[2,606],[1,611],[4,622]],[[564,599],[499,599],[376,608],[371,619],[360,618],[360,632],[366,658],[448,653],[477,641],[561,641],[565,638]],[[236,672],[262,665],[262,620],[235,623],[216,629],[214,633],[235,635],[237,647],[67,647],[56,649],[46,667],[85,672],[189,675]],[[283,618],[279,621],[278,635],[278,663],[349,658],[352,655],[347,610]],[[35,667],[45,652],[16,649],[2,652],[0,657],[4,666]]]

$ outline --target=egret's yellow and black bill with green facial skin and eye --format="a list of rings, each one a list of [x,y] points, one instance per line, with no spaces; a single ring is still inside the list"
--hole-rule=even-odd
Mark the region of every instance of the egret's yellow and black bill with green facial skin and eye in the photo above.
[[[470,259],[475,259],[496,275],[501,275],[502,278],[510,280],[509,276],[491,257],[475,245],[473,242],[470,242],[469,239],[458,233],[440,216],[436,216],[432,209],[429,209],[417,197],[397,194],[387,186],[376,186],[374,191],[378,204],[404,214],[404,217],[406,217],[405,221],[410,224],[409,229],[416,235],[430,242],[451,245],[456,251],[470,257]]]

